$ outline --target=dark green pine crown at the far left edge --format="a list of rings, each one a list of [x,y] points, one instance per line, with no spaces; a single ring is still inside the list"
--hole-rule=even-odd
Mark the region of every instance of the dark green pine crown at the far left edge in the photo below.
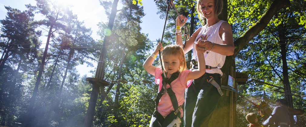
[[[33,10],[25,10],[21,12],[18,9],[5,6],[7,16],[0,20],[2,26],[0,35],[0,49],[2,49],[0,60],[0,73],[4,65],[15,65],[21,60],[30,57],[29,54],[36,52],[32,50],[38,45],[38,36],[41,31],[35,31],[37,22],[34,21]],[[20,65],[19,65],[20,66]]]

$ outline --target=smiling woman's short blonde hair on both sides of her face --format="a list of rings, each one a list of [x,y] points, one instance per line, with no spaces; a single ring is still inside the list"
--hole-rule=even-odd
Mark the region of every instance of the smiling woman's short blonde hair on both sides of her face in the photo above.
[[[201,11],[201,2],[203,0],[197,0],[196,3],[196,11],[198,11],[198,13],[200,14],[200,19],[204,20],[204,14]],[[223,8],[223,1],[222,0],[215,0],[215,14],[218,16]]]

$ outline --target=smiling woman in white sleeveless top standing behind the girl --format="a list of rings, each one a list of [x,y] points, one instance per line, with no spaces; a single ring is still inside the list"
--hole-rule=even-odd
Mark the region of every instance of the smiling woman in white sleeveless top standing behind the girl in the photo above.
[[[200,13],[200,18],[206,20],[206,24],[192,34],[186,42],[184,52],[187,53],[193,49],[193,54],[197,54],[194,45],[198,40],[202,40],[203,43],[199,43],[199,50],[206,51],[204,58],[207,69],[202,77],[195,79],[192,85],[185,90],[185,127],[207,126],[220,95],[222,95],[217,89],[221,86],[222,71],[220,68],[223,66],[226,56],[231,56],[234,53],[232,28],[229,23],[218,18],[222,6],[222,0],[197,1],[197,11]],[[184,20],[182,22],[177,17],[176,43],[182,46],[180,28],[185,25],[187,18],[182,15],[180,17]],[[192,59],[197,61],[197,56],[193,55]],[[192,68],[197,68],[197,65],[194,64]],[[217,82],[217,86],[207,82],[206,79],[210,79],[211,76]]]

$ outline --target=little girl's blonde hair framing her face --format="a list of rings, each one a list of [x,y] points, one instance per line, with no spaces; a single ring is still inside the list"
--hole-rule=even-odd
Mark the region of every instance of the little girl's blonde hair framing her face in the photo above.
[[[167,45],[164,50],[162,50],[161,55],[174,55],[182,62],[182,65],[179,67],[178,71],[182,72],[187,69],[185,54],[183,49],[178,45]],[[181,63],[180,63],[181,64]]]

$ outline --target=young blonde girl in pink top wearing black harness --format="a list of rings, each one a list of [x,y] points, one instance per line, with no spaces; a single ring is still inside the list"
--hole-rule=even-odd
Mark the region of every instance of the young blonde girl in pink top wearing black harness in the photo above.
[[[195,48],[196,50],[199,49],[198,44],[201,43],[201,41],[199,40],[198,42],[196,42],[195,44]],[[159,84],[159,92],[162,90],[163,85],[162,85],[162,68],[161,67],[155,67],[152,66],[152,63],[156,57],[156,55],[158,55],[159,50],[162,51],[161,52],[161,58],[163,61],[163,66],[164,66],[164,70],[166,72],[166,77],[170,78],[172,76],[172,74],[177,74],[176,72],[179,72],[178,77],[173,80],[170,85],[171,85],[171,89],[175,94],[175,97],[177,99],[177,103],[178,106],[181,107],[181,105],[184,103],[184,92],[185,92],[185,88],[188,88],[189,85],[191,84],[193,79],[196,78],[200,78],[204,73],[205,73],[205,60],[204,60],[204,51],[198,51],[197,52],[197,56],[198,56],[198,69],[194,69],[192,71],[190,70],[186,70],[186,60],[185,60],[185,56],[184,56],[184,51],[183,49],[178,46],[178,45],[168,45],[165,48],[162,47],[162,44],[159,43],[156,48],[154,53],[152,53],[151,56],[149,56],[147,58],[147,60],[144,62],[143,67],[144,69],[149,73],[155,76],[155,83]],[[169,83],[166,84],[166,89],[170,88]],[[161,126],[162,123],[160,122],[160,120],[158,120],[158,122],[156,121],[157,119],[160,119],[160,117],[158,118],[158,116],[156,116],[156,114],[158,114],[159,116],[161,115],[163,118],[166,118],[166,116],[170,113],[173,113],[175,111],[174,114],[177,115],[177,113],[181,114],[179,117],[177,117],[176,119],[174,119],[172,122],[168,122],[170,123],[167,126],[180,126],[181,124],[181,120],[180,117],[182,117],[183,115],[183,110],[179,107],[178,109],[174,109],[174,106],[171,102],[171,98],[169,96],[169,91],[165,92],[161,97],[160,100],[157,100],[158,106],[157,106],[157,112],[155,111],[155,113],[152,116],[151,122],[150,122],[150,127],[155,126],[157,123],[157,126]],[[166,118],[167,119],[167,118]],[[166,120],[165,120],[166,121]],[[154,122],[154,123],[153,123]],[[164,126],[164,125],[163,125]]]

